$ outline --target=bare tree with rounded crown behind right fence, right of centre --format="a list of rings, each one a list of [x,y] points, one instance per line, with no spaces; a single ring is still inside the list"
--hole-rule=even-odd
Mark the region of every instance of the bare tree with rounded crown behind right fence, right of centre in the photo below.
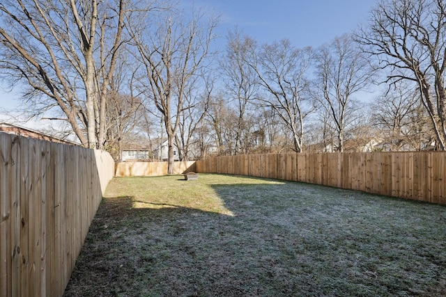
[[[344,152],[344,135],[349,120],[357,116],[353,97],[365,90],[373,72],[351,35],[335,38],[316,54],[316,102],[326,109],[337,133],[337,151]]]

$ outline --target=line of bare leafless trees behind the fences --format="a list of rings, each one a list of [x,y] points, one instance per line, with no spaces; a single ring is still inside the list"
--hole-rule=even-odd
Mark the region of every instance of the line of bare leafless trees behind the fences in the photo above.
[[[85,147],[208,154],[445,150],[446,3],[380,0],[367,23],[259,44],[171,1],[0,4],[0,70],[28,115]],[[64,123],[66,125],[64,125]]]

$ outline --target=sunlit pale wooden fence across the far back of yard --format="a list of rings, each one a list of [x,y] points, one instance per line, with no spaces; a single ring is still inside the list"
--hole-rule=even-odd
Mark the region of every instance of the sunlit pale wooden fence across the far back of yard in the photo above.
[[[154,177],[167,175],[167,162],[121,162],[116,163],[116,177]],[[174,162],[174,174],[195,171],[195,161]]]

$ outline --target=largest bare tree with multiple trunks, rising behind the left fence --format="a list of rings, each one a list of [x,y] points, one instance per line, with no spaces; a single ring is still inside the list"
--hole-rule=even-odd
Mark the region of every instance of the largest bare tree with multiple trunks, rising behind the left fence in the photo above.
[[[29,86],[37,113],[57,106],[82,145],[101,148],[125,2],[6,0],[0,11],[1,70]]]

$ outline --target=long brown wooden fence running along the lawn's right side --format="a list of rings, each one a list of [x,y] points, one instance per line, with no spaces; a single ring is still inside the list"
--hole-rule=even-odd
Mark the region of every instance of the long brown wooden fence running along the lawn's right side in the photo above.
[[[197,161],[197,172],[270,177],[446,204],[446,152],[253,154]]]

